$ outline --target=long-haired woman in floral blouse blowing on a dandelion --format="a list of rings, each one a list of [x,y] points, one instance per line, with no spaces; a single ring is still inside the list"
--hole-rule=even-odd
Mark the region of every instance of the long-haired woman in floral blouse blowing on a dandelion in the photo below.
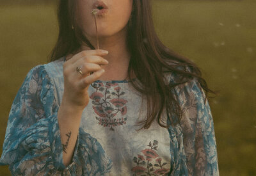
[[[51,62],[13,102],[1,164],[13,175],[219,174],[212,91],[159,41],[148,0],[60,1],[58,20]]]

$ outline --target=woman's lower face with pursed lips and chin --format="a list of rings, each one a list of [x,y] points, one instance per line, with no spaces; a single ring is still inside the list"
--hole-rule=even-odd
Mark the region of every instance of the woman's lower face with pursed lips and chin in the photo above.
[[[77,22],[88,38],[96,36],[93,4],[103,2],[108,7],[104,15],[96,15],[99,37],[112,36],[125,29],[132,12],[133,0],[76,0]]]

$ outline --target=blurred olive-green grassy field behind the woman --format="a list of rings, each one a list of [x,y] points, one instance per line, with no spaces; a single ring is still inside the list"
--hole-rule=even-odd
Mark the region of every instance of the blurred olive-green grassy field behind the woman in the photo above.
[[[159,38],[202,68],[210,88],[220,175],[256,175],[256,1],[152,0]],[[0,2],[0,151],[28,71],[58,36],[56,1]],[[10,175],[0,166],[0,175]]]

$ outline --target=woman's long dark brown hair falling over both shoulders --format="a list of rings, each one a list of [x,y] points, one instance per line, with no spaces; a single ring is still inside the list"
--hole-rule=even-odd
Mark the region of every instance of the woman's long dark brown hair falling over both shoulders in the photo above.
[[[81,47],[82,41],[91,49],[95,49],[76,25],[75,8],[73,0],[60,1],[58,4],[60,31],[56,46],[49,56],[49,61],[58,60],[70,53],[76,53]],[[131,81],[132,86],[147,97],[147,118],[140,121],[138,125],[143,124],[141,129],[148,129],[157,118],[158,124],[167,128],[168,125],[161,124],[163,122],[161,114],[164,107],[171,125],[176,125],[182,118],[179,102],[172,93],[175,86],[196,77],[200,86],[205,90],[205,100],[208,92],[215,92],[208,88],[205,79],[202,78],[200,69],[195,63],[168,49],[159,40],[154,29],[150,1],[134,0],[132,8],[131,24],[129,24],[127,31],[127,46],[132,56],[129,62],[128,76],[132,80],[132,72],[134,72],[140,81],[140,85],[136,81]],[[74,29],[72,29],[72,26],[74,26]],[[180,69],[180,67],[184,69]],[[189,68],[189,71],[186,68]],[[164,81],[165,72],[174,72],[187,79],[166,84]],[[176,116],[177,119],[173,119],[173,116]]]

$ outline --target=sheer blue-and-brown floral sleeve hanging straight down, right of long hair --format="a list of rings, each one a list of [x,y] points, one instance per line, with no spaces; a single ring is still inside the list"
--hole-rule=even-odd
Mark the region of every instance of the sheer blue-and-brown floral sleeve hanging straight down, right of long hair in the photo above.
[[[196,78],[175,88],[182,108],[180,126],[189,175],[219,175],[211,108]]]

